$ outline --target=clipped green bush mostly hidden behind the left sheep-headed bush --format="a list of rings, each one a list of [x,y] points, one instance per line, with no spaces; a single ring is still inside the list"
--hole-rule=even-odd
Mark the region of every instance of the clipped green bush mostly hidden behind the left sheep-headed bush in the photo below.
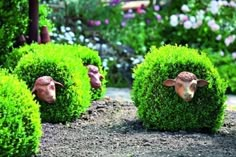
[[[46,45],[26,45],[19,49],[15,49],[14,51],[8,54],[4,67],[12,70],[17,65],[17,62],[20,60],[20,58],[25,54],[28,54],[30,52],[35,53],[44,51],[46,51],[47,53],[53,53],[55,55],[57,55],[57,52],[62,52],[64,53],[64,57],[81,58],[85,66],[88,64],[96,65],[98,66],[99,71],[104,76],[104,78],[106,76],[106,71],[102,68],[102,62],[101,58],[98,55],[98,52],[81,45],[62,45],[53,43],[49,43]],[[92,100],[102,98],[106,92],[106,79],[102,80],[102,88],[91,88],[91,91]]]

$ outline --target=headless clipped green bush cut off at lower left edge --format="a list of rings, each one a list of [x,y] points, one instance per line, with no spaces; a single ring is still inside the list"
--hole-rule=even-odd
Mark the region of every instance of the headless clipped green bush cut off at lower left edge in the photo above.
[[[0,156],[31,156],[42,135],[39,105],[25,82],[0,70]]]

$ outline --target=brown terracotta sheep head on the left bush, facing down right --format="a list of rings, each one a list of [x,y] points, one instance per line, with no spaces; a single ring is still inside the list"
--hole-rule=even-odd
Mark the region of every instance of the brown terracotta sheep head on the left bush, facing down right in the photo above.
[[[49,104],[56,101],[56,85],[63,85],[60,82],[53,80],[50,76],[42,76],[36,79],[32,93],[35,93],[36,96]]]

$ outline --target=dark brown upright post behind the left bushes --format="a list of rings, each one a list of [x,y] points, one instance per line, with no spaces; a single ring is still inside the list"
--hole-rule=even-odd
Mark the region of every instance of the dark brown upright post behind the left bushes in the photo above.
[[[28,43],[38,42],[38,20],[39,2],[38,0],[29,1],[29,41]]]

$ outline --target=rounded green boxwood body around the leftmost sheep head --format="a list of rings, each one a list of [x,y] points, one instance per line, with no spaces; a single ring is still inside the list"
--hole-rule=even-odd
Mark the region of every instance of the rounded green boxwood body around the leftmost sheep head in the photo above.
[[[64,88],[56,88],[55,103],[39,101],[41,118],[43,122],[52,123],[72,121],[90,106],[88,70],[81,59],[66,57],[63,48],[43,47],[42,45],[37,52],[23,56],[13,72],[26,81],[30,89],[40,76],[51,76],[62,83]],[[56,53],[51,53],[53,51]]]

